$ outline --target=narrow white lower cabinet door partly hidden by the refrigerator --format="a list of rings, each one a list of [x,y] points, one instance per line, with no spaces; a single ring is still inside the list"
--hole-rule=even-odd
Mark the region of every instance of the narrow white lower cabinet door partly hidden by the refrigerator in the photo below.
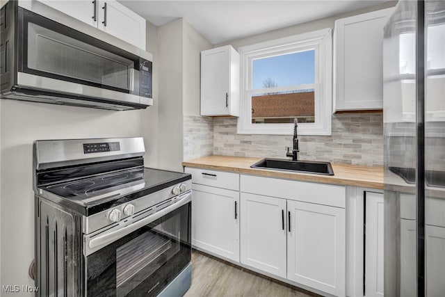
[[[365,296],[383,296],[383,194],[366,192]]]

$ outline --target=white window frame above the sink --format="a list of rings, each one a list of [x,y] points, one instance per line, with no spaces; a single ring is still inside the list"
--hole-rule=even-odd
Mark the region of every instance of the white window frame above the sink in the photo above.
[[[252,61],[315,49],[314,83],[252,90]],[[252,124],[252,95],[314,88],[315,122],[298,124],[300,135],[332,134],[332,29],[260,42],[238,48],[241,58],[241,102],[238,134],[292,135],[293,124]]]

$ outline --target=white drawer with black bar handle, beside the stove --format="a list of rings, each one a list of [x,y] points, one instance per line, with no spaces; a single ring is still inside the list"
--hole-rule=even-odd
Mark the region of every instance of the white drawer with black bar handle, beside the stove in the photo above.
[[[185,172],[191,173],[193,184],[203,184],[204,186],[216,186],[218,188],[228,188],[229,190],[239,191],[238,173],[189,167],[186,167]]]

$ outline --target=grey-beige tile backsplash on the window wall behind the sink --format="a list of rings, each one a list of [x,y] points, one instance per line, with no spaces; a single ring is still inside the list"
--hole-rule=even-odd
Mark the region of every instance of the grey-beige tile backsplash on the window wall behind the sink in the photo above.
[[[286,158],[292,136],[236,134],[236,118],[213,120],[213,154]],[[332,136],[299,136],[298,157],[364,166],[383,166],[382,113],[332,115]]]

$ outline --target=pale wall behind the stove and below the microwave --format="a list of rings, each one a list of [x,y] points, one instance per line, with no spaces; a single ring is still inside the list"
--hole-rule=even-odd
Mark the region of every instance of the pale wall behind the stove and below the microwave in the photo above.
[[[3,284],[33,285],[28,276],[34,258],[33,141],[143,136],[145,165],[157,166],[157,27],[147,24],[147,34],[147,50],[154,54],[154,106],[138,111],[105,111],[0,100],[0,290]],[[0,291],[0,296],[23,295]]]

